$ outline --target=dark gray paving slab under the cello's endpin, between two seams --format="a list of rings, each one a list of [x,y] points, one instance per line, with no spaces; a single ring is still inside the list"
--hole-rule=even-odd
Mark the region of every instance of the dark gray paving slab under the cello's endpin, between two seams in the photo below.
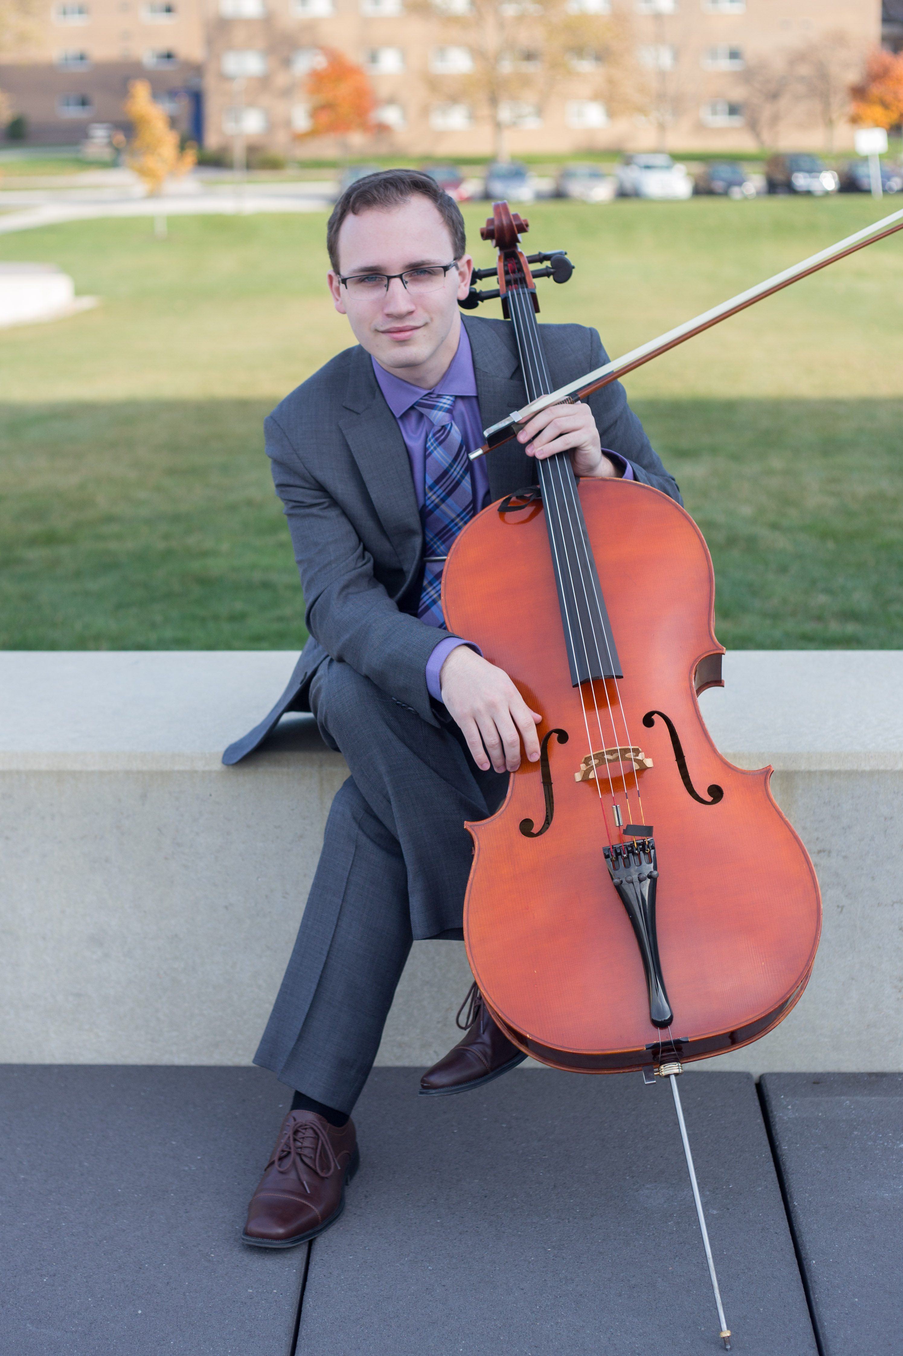
[[[723,1351],[667,1085],[541,1070],[416,1089],[416,1070],[367,1082],[298,1356]],[[815,1356],[751,1077],[681,1078],[681,1094],[734,1351]]]

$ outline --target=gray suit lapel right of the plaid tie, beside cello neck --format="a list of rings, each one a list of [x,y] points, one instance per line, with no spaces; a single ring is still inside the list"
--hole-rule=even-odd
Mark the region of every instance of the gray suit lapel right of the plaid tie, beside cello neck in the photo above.
[[[473,316],[464,316],[462,320],[473,353],[480,416],[483,427],[489,428],[526,404],[514,331],[504,320],[498,324],[487,324]],[[536,480],[536,468],[518,442],[503,443],[488,454],[487,462],[492,499],[502,499]]]

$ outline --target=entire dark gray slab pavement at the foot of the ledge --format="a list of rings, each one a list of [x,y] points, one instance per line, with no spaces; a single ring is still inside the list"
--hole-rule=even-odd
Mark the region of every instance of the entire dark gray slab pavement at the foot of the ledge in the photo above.
[[[270,1074],[0,1066],[0,1349],[723,1349],[667,1086],[515,1071],[420,1098],[418,1073],[372,1074],[343,1218],[264,1252],[239,1235],[287,1106]],[[816,1356],[814,1322],[822,1356],[899,1349],[903,1078],[679,1083],[738,1356]]]

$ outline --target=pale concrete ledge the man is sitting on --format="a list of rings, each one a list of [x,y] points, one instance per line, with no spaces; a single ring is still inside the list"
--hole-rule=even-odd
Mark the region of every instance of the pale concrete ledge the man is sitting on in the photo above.
[[[296,658],[0,655],[0,1060],[249,1062],[347,776],[302,716],[220,762]],[[903,1070],[903,655],[742,652],[724,673],[702,712],[732,762],[776,766],[824,933],[797,1009],[716,1067]],[[437,1059],[468,983],[461,944],[416,944],[378,1062]]]

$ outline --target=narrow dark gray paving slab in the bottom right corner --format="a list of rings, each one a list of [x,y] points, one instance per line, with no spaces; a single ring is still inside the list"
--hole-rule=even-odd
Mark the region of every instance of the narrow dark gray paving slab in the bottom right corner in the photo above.
[[[899,1352],[903,1074],[766,1074],[822,1356]]]

